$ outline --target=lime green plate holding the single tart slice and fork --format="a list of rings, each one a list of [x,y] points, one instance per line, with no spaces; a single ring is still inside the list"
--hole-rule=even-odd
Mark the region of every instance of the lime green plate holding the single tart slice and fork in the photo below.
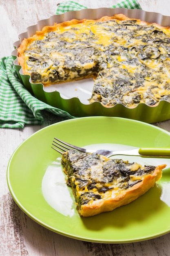
[[[15,150],[7,182],[18,206],[58,234],[95,243],[130,243],[170,232],[170,159],[116,157],[141,164],[167,164],[154,187],[114,211],[82,218],[64,181],[53,137],[77,146],[100,148],[170,147],[170,132],[120,117],[81,117],[35,132]],[[102,145],[101,145],[102,144]]]

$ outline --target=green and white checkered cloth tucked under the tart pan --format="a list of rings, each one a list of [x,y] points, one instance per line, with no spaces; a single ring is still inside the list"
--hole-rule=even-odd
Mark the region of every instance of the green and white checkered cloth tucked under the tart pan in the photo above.
[[[110,8],[124,7],[141,9],[135,0],[125,0]],[[66,11],[86,9],[73,1],[63,2],[57,7],[56,14]],[[18,79],[11,56],[0,59],[0,128],[23,128],[25,124],[35,125],[44,122],[44,112],[58,116],[58,120],[74,118],[67,112],[54,108],[33,97]],[[60,117],[60,118],[59,118]]]

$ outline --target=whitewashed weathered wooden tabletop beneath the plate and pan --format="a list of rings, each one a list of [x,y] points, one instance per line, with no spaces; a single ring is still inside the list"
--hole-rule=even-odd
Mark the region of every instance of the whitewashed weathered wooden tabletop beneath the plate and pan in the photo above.
[[[55,14],[62,0],[0,0],[0,57],[10,56],[13,42],[26,27]],[[110,7],[117,0],[75,1],[89,8]],[[139,0],[142,9],[170,15],[167,0]],[[0,256],[169,256],[170,234],[137,243],[99,244],[56,234],[40,226],[15,204],[6,181],[7,164],[17,146],[35,131],[60,121],[47,115],[41,126],[0,129]],[[170,131],[170,120],[155,124]]]

